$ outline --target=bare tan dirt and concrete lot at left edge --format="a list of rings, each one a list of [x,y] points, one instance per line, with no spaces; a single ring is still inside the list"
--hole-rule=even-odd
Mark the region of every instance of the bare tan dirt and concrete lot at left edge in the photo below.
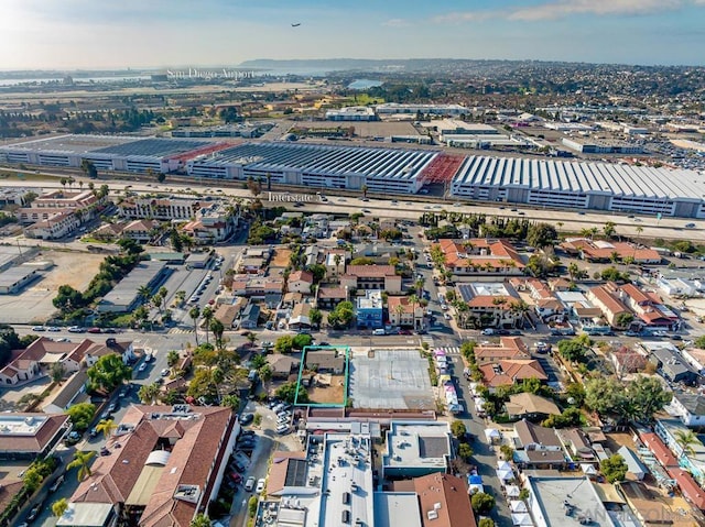
[[[7,323],[43,322],[56,311],[52,299],[58,287],[68,284],[85,290],[104,259],[98,254],[43,251],[34,260],[51,260],[54,267],[41,271],[42,278],[35,279],[19,294],[0,295],[0,320]]]

